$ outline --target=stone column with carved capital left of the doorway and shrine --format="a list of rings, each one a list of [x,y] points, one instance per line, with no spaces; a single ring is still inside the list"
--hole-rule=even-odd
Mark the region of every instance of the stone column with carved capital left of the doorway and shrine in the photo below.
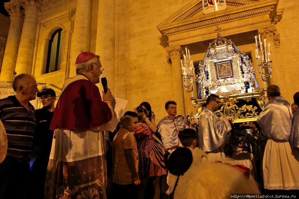
[[[178,115],[185,115],[185,101],[184,101],[184,88],[182,81],[182,70],[181,70],[181,46],[169,46],[166,47],[168,56],[170,58],[170,74],[171,84],[173,86],[173,99],[177,103]]]

